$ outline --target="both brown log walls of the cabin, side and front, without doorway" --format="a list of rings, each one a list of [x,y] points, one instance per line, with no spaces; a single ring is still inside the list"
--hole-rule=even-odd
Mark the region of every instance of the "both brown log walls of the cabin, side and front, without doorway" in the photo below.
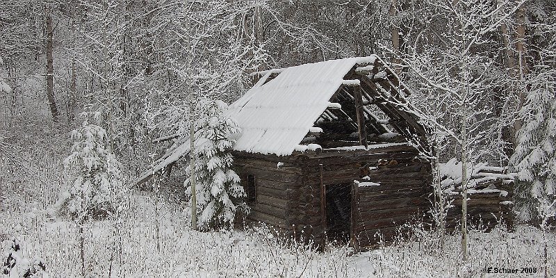
[[[423,215],[431,206],[430,164],[409,145],[292,156],[237,152],[234,165],[243,180],[248,174],[256,177],[256,204],[249,220],[272,224],[288,235],[295,230],[298,238],[303,235],[319,245],[326,231],[321,183],[351,185],[365,176],[380,183],[359,188],[357,210],[352,209],[352,229],[361,246],[375,243],[377,231],[392,236],[410,215]]]

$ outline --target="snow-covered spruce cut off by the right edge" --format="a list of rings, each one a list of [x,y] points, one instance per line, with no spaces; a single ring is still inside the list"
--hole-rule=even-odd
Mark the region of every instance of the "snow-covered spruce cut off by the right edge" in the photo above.
[[[531,90],[519,111],[518,131],[511,163],[518,172],[515,206],[518,218],[544,227],[556,215],[556,81],[550,74],[530,80]]]

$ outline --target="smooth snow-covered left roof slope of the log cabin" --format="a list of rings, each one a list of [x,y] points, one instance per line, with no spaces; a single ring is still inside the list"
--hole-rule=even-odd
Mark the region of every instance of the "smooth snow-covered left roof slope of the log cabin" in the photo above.
[[[292,154],[329,99],[345,83],[343,77],[359,63],[377,56],[327,60],[288,67],[265,83],[268,71],[243,97],[229,106],[242,133],[234,149],[261,154]]]

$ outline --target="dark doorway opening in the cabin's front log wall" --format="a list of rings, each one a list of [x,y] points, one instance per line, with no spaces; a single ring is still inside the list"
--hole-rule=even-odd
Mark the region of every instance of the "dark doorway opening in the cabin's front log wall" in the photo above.
[[[351,183],[331,184],[325,188],[328,240],[348,243],[351,228]]]

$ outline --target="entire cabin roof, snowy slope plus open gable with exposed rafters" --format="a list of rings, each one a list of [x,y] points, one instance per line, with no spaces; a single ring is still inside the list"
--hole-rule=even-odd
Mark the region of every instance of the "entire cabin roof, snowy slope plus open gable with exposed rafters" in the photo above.
[[[425,129],[418,122],[422,114],[409,104],[409,91],[378,56],[259,75],[259,82],[229,109],[242,129],[237,151],[286,156],[316,145],[400,140],[426,145]]]

